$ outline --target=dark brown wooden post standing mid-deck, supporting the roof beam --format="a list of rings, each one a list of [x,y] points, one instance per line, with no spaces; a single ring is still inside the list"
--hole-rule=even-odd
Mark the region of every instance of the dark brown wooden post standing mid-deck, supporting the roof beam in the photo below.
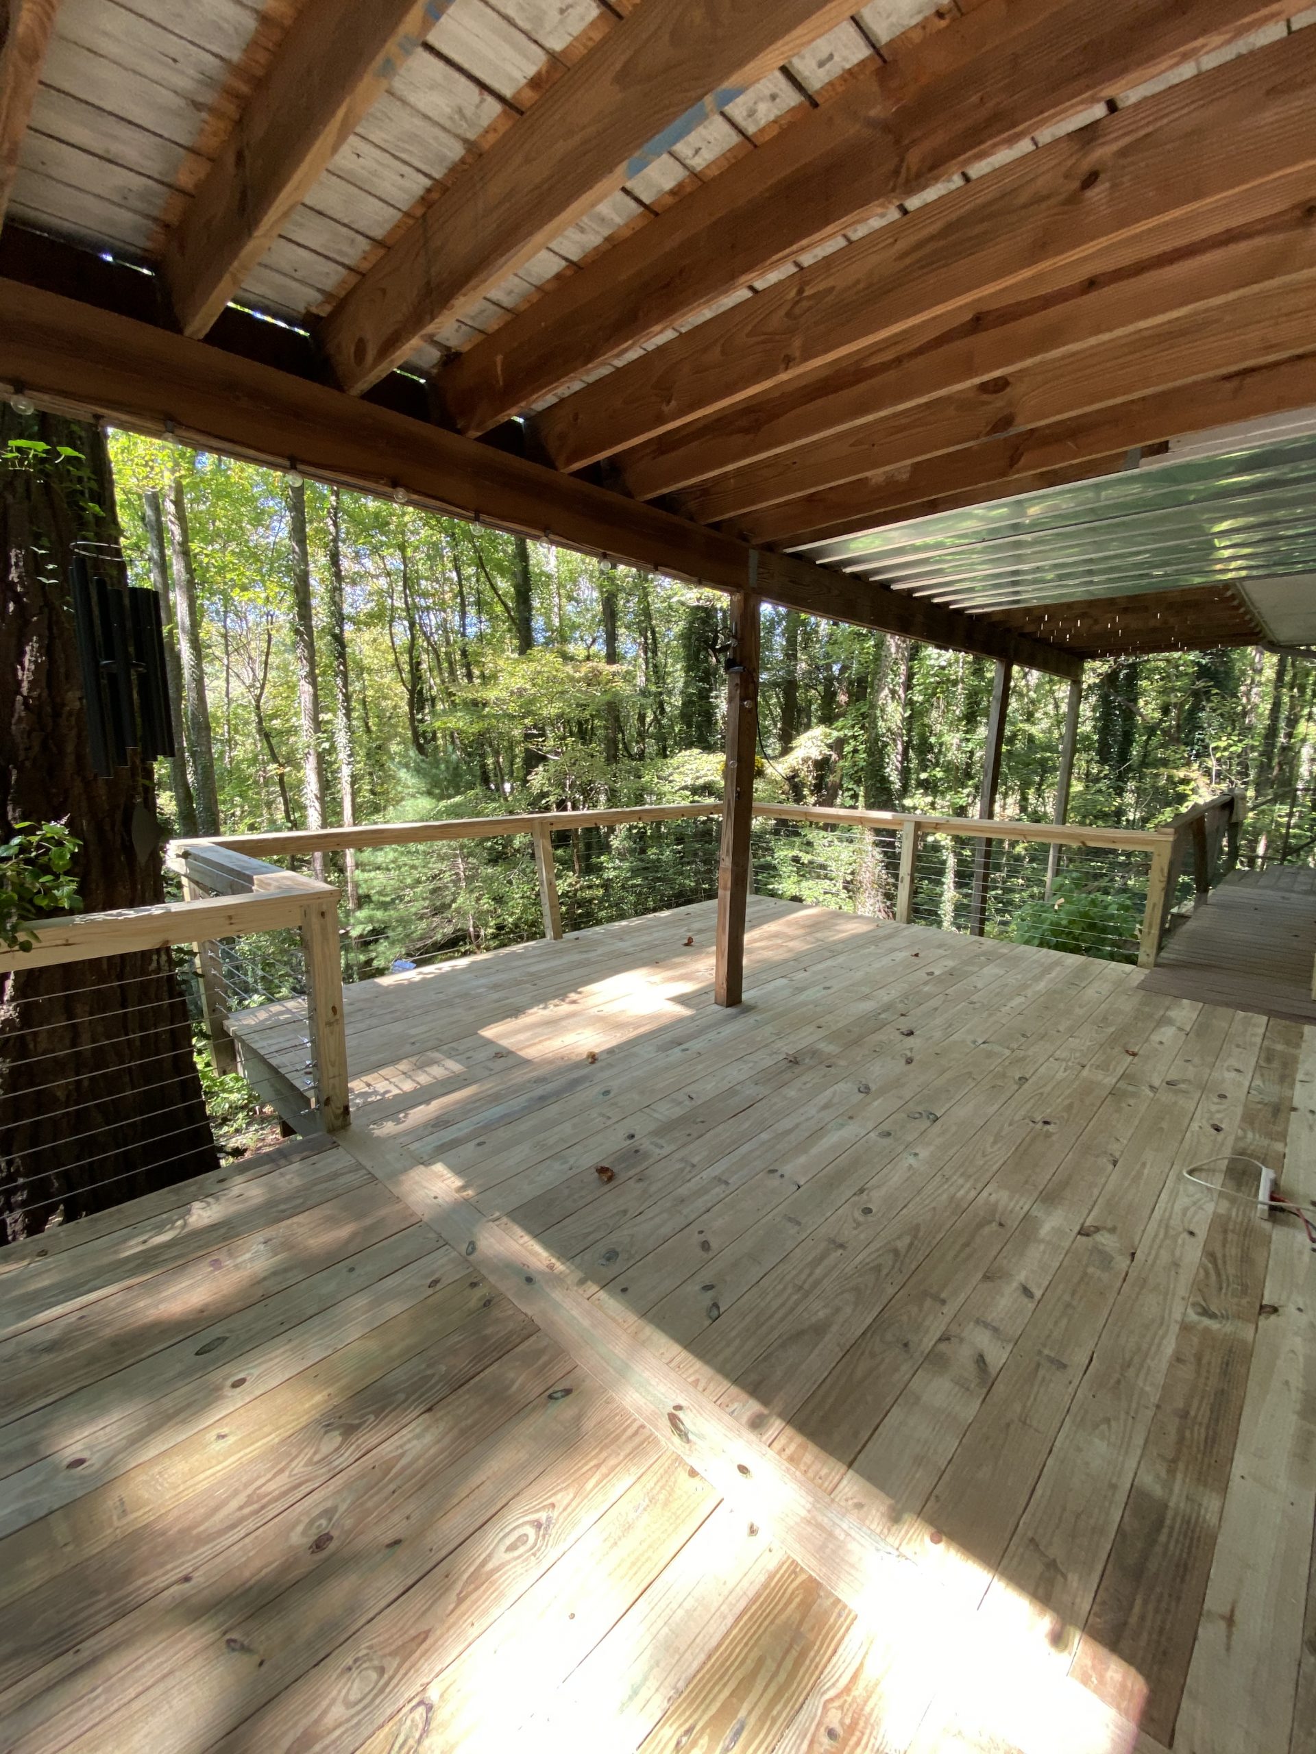
[[[718,952],[712,996],[739,1005],[744,986],[744,914],[749,896],[749,830],[755,821],[758,751],[758,598],[732,595],[732,652],[726,667],[726,777],[718,856]]]

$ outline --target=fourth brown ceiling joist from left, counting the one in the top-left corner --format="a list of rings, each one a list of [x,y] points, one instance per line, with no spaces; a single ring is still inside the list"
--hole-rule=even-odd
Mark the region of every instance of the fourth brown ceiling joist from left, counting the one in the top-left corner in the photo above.
[[[1202,54],[1286,4],[990,0],[918,26],[819,109],[683,196],[442,374],[481,433],[811,246],[1041,128]]]

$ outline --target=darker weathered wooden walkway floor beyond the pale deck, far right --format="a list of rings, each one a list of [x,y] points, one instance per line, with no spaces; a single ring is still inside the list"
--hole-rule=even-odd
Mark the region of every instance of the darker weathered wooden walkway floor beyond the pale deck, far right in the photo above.
[[[1148,972],[1153,993],[1316,1023],[1316,870],[1234,872],[1176,926]]]

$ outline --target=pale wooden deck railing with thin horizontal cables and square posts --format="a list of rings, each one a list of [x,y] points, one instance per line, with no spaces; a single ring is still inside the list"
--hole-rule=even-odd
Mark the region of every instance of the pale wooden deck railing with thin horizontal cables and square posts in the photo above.
[[[39,923],[35,947],[0,952],[0,972],[195,945],[218,1070],[239,1065],[298,1131],[335,1131],[349,1119],[339,891],[270,859],[525,835],[539,879],[542,933],[560,938],[572,924],[595,923],[579,917],[586,893],[579,884],[583,830],[644,828],[647,835],[688,824],[677,865],[690,875],[681,900],[695,900],[716,889],[712,819],[719,814],[721,803],[707,800],[179,840],[168,865],[182,879],[182,902]],[[1160,830],[765,802],[755,805],[755,881],[763,893],[784,898],[1149,968],[1174,919],[1188,905],[1200,907],[1230,870],[1241,817],[1237,793]],[[572,851],[577,859],[567,881],[576,888],[567,889],[563,907],[560,859],[570,859]],[[670,868],[669,858],[669,877]],[[625,882],[619,889],[605,898],[612,910],[604,917],[625,917]],[[598,893],[598,886],[588,891],[595,902]],[[300,959],[288,956],[286,942],[277,954],[267,952],[272,933],[284,940],[295,933]],[[277,966],[277,979],[268,966]],[[230,1031],[239,1014],[246,1014],[244,1026]],[[261,1044],[275,1051],[267,1058]]]

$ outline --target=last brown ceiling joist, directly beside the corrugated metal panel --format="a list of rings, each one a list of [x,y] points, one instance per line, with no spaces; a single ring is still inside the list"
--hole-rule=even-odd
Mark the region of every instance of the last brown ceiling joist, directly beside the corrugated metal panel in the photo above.
[[[898,510],[900,517],[895,521],[902,521],[909,516],[905,507],[944,495],[974,491],[981,498],[998,498],[998,493],[988,495],[986,489],[1023,493],[1026,486],[1012,484],[1026,484],[1039,470],[1069,468],[1116,453],[1128,454],[1165,438],[1309,409],[1312,403],[1316,403],[1316,353],[1305,353],[1274,365],[1209,377],[1179,389],[1156,391],[1051,426],[988,438],[984,444],[965,446],[962,451],[876,477],[848,481],[840,488],[826,488],[767,507],[749,517],[732,519],[728,528],[747,542],[802,547],[891,523],[893,519],[886,516],[890,512]],[[960,503],[974,502],[962,498]]]

